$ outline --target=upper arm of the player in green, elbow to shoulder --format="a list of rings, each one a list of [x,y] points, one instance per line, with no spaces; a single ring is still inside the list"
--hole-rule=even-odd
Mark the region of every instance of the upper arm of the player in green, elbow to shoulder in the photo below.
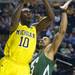
[[[50,54],[53,54],[53,56],[56,54],[63,38],[64,38],[64,34],[65,33],[60,33],[58,32],[56,35],[55,35],[55,39],[53,40],[53,43],[48,51],[49,55]]]

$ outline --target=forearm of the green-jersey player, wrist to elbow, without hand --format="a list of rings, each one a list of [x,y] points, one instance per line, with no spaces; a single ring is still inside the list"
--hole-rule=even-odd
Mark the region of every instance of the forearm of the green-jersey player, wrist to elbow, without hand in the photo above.
[[[62,13],[62,19],[61,19],[61,23],[60,23],[60,28],[59,28],[59,33],[65,33],[66,29],[67,29],[67,13],[63,12]]]

